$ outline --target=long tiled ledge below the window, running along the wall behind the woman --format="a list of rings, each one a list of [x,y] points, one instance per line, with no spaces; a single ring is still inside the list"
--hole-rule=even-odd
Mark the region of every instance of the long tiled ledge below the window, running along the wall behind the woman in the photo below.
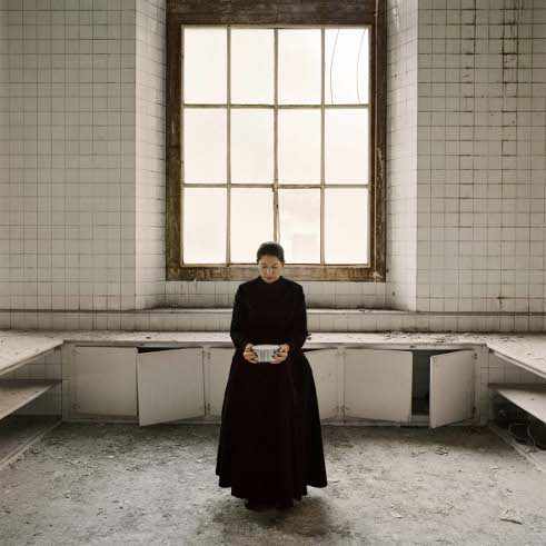
[[[0,329],[37,330],[229,330],[231,308],[141,310],[4,310]],[[390,309],[308,308],[314,331],[544,332],[542,312],[414,312]]]

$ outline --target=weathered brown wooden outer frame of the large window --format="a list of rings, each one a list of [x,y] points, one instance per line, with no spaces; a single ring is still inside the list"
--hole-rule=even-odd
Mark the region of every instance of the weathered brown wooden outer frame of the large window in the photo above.
[[[181,29],[182,26],[271,27],[356,27],[370,29],[369,95],[369,265],[290,265],[284,272],[294,280],[385,280],[386,275],[386,13],[385,0],[302,0],[298,10],[286,10],[281,2],[245,3],[206,0],[170,0],[167,11],[166,85],[166,277],[167,280],[248,280],[256,277],[256,265],[181,264]],[[205,185],[203,185],[205,186]],[[207,185],[209,186],[209,185]],[[211,185],[214,186],[214,185]],[[250,185],[252,186],[252,185]],[[268,187],[268,185],[256,185]],[[291,186],[291,185],[287,185]],[[305,185],[297,185],[305,188]],[[331,186],[330,186],[331,187]],[[275,203],[277,206],[277,203]],[[278,217],[278,215],[277,215]],[[322,220],[321,220],[322,221]],[[275,226],[275,240],[278,240]],[[229,241],[228,241],[229,244]]]

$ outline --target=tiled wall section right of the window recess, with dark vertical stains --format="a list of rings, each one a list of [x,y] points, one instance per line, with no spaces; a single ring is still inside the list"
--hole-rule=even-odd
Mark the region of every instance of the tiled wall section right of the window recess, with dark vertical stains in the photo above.
[[[417,310],[543,312],[546,2],[418,17]]]

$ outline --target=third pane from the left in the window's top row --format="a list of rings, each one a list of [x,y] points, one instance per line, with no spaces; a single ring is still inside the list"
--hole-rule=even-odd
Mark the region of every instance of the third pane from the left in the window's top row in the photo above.
[[[279,30],[279,102],[320,103],[320,29]]]

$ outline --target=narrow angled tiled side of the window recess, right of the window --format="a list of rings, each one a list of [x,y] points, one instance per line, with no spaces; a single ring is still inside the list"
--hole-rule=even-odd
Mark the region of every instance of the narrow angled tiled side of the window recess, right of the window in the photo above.
[[[387,28],[387,301],[415,309],[417,0],[388,0]]]

